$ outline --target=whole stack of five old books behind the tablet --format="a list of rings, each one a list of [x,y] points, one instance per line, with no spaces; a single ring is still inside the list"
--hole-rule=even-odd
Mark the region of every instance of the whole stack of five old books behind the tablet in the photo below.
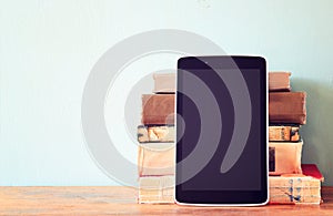
[[[271,204],[320,204],[323,177],[301,164],[305,92],[292,92],[289,72],[269,74],[269,185]],[[175,74],[154,74],[154,94],[142,95],[138,126],[139,203],[174,203]]]

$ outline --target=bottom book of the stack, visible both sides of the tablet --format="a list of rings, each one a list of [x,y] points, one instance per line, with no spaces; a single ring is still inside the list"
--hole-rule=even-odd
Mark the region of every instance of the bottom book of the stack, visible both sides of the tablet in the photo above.
[[[303,164],[303,174],[270,176],[270,204],[320,204],[323,176],[314,164]],[[174,176],[139,178],[139,203],[174,203]]]

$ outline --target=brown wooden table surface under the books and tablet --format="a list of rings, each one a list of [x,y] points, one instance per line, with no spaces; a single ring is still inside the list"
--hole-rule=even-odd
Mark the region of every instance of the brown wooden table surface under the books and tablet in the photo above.
[[[129,187],[0,187],[0,215],[330,215],[333,187],[323,187],[321,205],[190,207],[137,204]],[[289,215],[286,215],[289,214]]]

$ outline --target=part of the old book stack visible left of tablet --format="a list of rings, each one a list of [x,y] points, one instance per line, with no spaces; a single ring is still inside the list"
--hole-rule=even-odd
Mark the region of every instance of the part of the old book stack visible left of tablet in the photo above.
[[[174,74],[154,74],[153,94],[142,95],[138,126],[139,203],[173,203]]]

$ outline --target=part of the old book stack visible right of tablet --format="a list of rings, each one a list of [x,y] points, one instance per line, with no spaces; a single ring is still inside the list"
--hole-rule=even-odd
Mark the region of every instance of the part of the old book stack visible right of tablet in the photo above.
[[[306,93],[292,92],[290,72],[269,73],[270,203],[320,204],[323,177],[315,165],[302,165]]]

